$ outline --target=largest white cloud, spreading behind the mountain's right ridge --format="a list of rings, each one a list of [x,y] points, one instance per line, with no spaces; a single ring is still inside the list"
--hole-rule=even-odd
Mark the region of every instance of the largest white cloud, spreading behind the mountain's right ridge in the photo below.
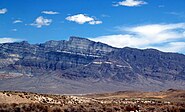
[[[157,48],[171,52],[182,52],[185,49],[185,23],[120,27],[119,30],[121,34],[90,39],[119,48]]]

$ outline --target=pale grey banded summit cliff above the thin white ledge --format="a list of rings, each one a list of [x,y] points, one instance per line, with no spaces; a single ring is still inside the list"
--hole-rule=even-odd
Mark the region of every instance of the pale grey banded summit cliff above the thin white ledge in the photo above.
[[[71,52],[81,55],[94,55],[97,57],[115,50],[115,48],[106,44],[93,42],[80,37],[70,37],[69,41],[48,41],[39,46],[44,50],[64,53]]]

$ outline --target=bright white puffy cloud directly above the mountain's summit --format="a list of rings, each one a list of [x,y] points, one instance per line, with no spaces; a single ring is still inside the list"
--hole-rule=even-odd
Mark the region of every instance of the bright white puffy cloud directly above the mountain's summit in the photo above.
[[[78,24],[84,24],[84,23],[88,23],[88,24],[91,24],[91,25],[102,24],[102,21],[98,21],[95,18],[89,17],[89,16],[84,15],[84,14],[77,14],[77,15],[73,15],[73,16],[68,16],[68,17],[66,17],[66,20],[73,21],[73,22],[76,22]]]

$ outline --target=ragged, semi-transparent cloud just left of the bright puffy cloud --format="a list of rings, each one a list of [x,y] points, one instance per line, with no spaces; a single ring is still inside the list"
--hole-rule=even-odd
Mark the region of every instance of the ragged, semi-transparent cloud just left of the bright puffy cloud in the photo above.
[[[46,19],[42,16],[39,16],[34,23],[30,24],[31,26],[36,26],[37,28],[41,28],[42,26],[49,26],[52,23],[52,19]]]

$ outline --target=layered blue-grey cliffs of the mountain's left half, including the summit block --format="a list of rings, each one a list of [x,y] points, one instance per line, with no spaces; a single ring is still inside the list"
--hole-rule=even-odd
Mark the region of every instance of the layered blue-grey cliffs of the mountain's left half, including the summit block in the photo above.
[[[24,71],[26,74],[36,69],[65,70],[88,64],[113,50],[115,48],[106,44],[79,37],[36,45],[25,41],[7,43],[0,46],[0,68],[1,71]]]

